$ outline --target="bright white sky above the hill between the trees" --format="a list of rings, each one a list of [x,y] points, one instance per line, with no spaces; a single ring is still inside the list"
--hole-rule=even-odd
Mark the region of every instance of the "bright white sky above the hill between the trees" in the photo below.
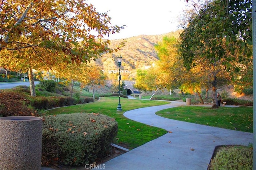
[[[160,35],[176,31],[186,0],[88,0],[97,12],[108,12],[112,25],[126,25],[108,39]]]

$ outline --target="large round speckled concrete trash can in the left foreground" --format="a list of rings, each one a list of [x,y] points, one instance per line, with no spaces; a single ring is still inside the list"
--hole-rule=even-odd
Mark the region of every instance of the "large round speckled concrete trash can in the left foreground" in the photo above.
[[[1,170],[41,170],[42,118],[0,117]]]

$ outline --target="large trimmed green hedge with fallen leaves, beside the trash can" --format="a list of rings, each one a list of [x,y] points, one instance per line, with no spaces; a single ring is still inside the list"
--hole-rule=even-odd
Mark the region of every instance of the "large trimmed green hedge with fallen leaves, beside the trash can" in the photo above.
[[[98,113],[43,117],[42,164],[84,165],[104,158],[117,134],[117,122]]]

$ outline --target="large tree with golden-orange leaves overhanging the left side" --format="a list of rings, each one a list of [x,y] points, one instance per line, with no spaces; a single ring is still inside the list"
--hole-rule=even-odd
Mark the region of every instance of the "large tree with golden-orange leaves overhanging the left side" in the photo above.
[[[102,38],[123,26],[111,25],[107,13],[96,12],[84,0],[3,0],[0,6],[1,65],[15,69],[9,61],[20,63],[29,70],[30,83],[32,68],[86,63],[120,49],[108,48],[109,40]]]

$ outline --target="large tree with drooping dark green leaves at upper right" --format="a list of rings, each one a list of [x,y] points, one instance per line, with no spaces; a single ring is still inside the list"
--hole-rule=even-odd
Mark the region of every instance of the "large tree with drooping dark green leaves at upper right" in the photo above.
[[[249,63],[252,56],[251,1],[213,1],[192,18],[180,35],[180,54],[190,69],[195,60],[240,70],[238,63]],[[232,62],[236,64],[231,64]],[[232,70],[232,71],[231,71]],[[215,80],[213,82],[216,82]],[[213,84],[214,98],[216,86]]]

